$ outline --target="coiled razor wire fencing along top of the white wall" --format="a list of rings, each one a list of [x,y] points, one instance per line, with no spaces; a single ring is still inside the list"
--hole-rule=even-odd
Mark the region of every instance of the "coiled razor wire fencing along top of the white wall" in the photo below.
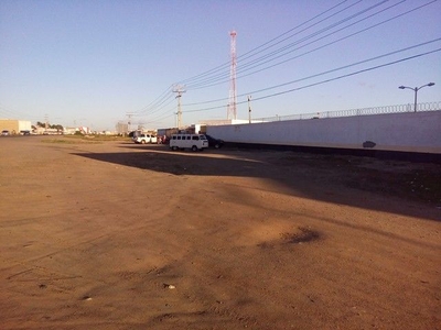
[[[303,120],[303,119],[321,119],[321,118],[338,118],[338,117],[355,117],[355,116],[372,116],[385,113],[402,113],[402,112],[423,112],[441,110],[441,101],[418,103],[417,111],[413,105],[397,105],[385,107],[373,107],[351,110],[337,110],[325,112],[311,112],[290,116],[275,116],[267,118],[252,119],[252,122],[271,122],[271,121],[286,121],[286,120]]]

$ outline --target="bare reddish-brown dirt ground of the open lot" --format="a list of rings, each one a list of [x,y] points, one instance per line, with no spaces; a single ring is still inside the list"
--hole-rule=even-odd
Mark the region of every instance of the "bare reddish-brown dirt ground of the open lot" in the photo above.
[[[441,165],[0,139],[0,329],[441,329]]]

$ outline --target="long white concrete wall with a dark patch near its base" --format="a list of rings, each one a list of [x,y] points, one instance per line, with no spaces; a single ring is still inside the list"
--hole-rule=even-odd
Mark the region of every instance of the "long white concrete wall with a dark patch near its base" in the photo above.
[[[441,154],[441,111],[218,125],[207,134],[234,143]]]

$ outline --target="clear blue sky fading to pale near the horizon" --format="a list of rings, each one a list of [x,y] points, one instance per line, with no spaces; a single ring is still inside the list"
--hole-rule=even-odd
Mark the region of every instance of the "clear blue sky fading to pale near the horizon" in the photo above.
[[[302,88],[440,50],[440,16],[431,0],[0,0],[0,118],[174,127],[180,82],[184,124],[225,119],[232,30],[237,100],[251,95],[254,118],[412,103],[398,86],[430,81],[418,100],[440,101],[439,51]]]

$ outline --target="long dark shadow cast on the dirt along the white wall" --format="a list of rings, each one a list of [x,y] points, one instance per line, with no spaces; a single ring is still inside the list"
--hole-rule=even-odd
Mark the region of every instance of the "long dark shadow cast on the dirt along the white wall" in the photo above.
[[[273,182],[281,194],[441,220],[438,164],[239,148],[193,153],[171,152],[165,145],[120,147],[125,151],[75,155],[171,175],[262,178]],[[388,204],[388,199],[399,202]]]

